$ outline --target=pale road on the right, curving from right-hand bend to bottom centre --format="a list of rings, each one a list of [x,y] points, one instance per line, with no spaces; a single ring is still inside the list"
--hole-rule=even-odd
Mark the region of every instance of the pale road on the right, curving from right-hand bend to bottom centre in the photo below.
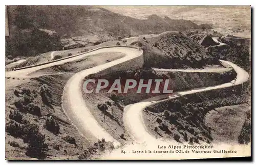
[[[202,91],[209,91],[209,90],[215,90],[215,89],[220,89],[220,88],[225,88],[225,87],[230,87],[233,85],[233,82],[235,82],[235,85],[242,84],[243,82],[247,81],[249,78],[249,74],[237,66],[236,64],[233,64],[228,61],[223,61],[220,60],[222,63],[230,65],[234,71],[237,72],[237,80],[230,81],[228,83],[218,85],[218,86],[212,86],[212,87],[207,87],[207,88],[200,88],[200,89],[194,89],[194,90],[188,90],[188,91],[183,91],[183,92],[177,92],[174,93],[173,95],[170,96],[165,96],[166,99],[170,98],[175,98],[178,96],[183,96],[191,93],[197,93],[197,92],[202,92]],[[146,106],[149,106],[154,103],[158,103],[161,101],[159,100],[159,96],[154,98],[150,98],[135,104],[130,104],[127,105],[124,108],[124,116],[123,116],[123,121],[125,128],[127,131],[129,131],[130,135],[134,137],[134,140],[137,142],[152,142],[153,139],[155,139],[150,133],[148,133],[146,126],[143,121],[142,117],[142,111]],[[162,97],[164,99],[164,96]]]

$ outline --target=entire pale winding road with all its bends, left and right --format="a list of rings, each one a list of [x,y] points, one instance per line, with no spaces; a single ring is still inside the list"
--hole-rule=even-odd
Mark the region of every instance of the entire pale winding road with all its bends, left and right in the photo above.
[[[91,56],[97,53],[103,53],[103,52],[121,52],[126,54],[125,57],[117,59],[115,61],[105,63],[103,65],[99,65],[93,68],[89,68],[83,71],[80,71],[73,75],[67,82],[64,90],[63,90],[63,96],[62,96],[62,107],[65,110],[67,116],[71,119],[71,121],[78,127],[78,130],[82,134],[86,134],[86,137],[89,140],[95,141],[98,139],[104,138],[106,141],[113,141],[115,146],[119,146],[120,143],[114,139],[113,136],[111,136],[108,132],[106,132],[96,121],[96,119],[91,114],[90,110],[88,109],[87,105],[84,103],[83,97],[82,97],[82,81],[83,78],[88,76],[89,74],[97,73],[99,71],[103,71],[105,69],[111,68],[115,65],[124,63],[126,61],[132,60],[136,57],[142,56],[142,51],[135,49],[135,48],[129,48],[129,47],[109,47],[109,48],[101,48],[92,52],[81,54],[80,56],[72,57],[69,59],[64,59],[56,62],[52,62],[45,65],[35,66],[31,68],[26,68],[22,70],[16,70],[16,71],[10,71],[6,72],[7,77],[30,77],[30,74],[32,72],[35,72],[37,70],[40,70],[42,68],[47,68],[63,63],[67,63],[70,61],[75,61],[81,58],[84,58],[86,56]],[[237,72],[237,80],[235,82],[236,85],[242,84],[243,82],[248,80],[249,74],[240,68],[239,66],[228,62],[223,61],[221,62],[224,65],[231,66],[236,72]],[[230,68],[228,68],[229,70]],[[165,69],[158,69],[158,70],[164,70]],[[181,71],[181,70],[173,70],[173,71]],[[182,70],[186,71],[186,70]],[[214,70],[187,70],[188,72],[220,72],[220,71],[226,71],[226,69],[220,68],[214,69]],[[144,101],[127,105],[124,108],[124,115],[123,115],[123,121],[125,125],[125,129],[127,132],[130,133],[133,140],[137,143],[145,143],[149,145],[153,145],[155,143],[160,143],[160,141],[164,142],[160,139],[155,139],[153,135],[151,135],[144,124],[143,117],[142,117],[142,110],[148,105],[160,102],[159,99],[171,99],[174,97],[178,97],[181,95],[201,92],[201,91],[208,91],[208,90],[214,90],[214,89],[220,89],[232,86],[232,83],[234,80],[222,85],[218,86],[212,86],[207,88],[201,88],[201,89],[194,89],[189,91],[183,91],[174,93],[172,96],[163,95],[163,96],[157,96],[154,98],[146,99]],[[162,143],[161,142],[161,143]],[[164,142],[165,143],[165,142]],[[127,146],[129,148],[129,146]],[[139,149],[139,148],[138,148]],[[115,152],[114,152],[115,153]],[[112,155],[113,156],[113,155]],[[110,156],[111,157],[111,156]]]

